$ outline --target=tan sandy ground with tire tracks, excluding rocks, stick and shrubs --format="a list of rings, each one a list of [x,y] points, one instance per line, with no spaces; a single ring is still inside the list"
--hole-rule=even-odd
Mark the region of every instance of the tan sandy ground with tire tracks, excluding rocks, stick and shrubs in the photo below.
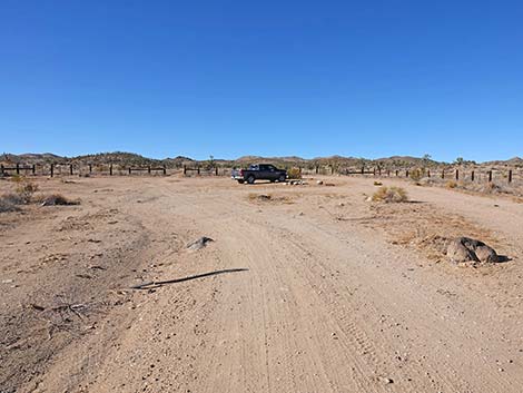
[[[324,179],[39,180],[81,205],[0,215],[0,392],[522,392],[523,205]]]

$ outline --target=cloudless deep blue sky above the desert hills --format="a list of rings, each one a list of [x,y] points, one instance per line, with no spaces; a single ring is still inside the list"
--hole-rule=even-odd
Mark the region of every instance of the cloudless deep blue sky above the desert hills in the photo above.
[[[69,156],[521,156],[523,2],[0,0],[0,135]]]

